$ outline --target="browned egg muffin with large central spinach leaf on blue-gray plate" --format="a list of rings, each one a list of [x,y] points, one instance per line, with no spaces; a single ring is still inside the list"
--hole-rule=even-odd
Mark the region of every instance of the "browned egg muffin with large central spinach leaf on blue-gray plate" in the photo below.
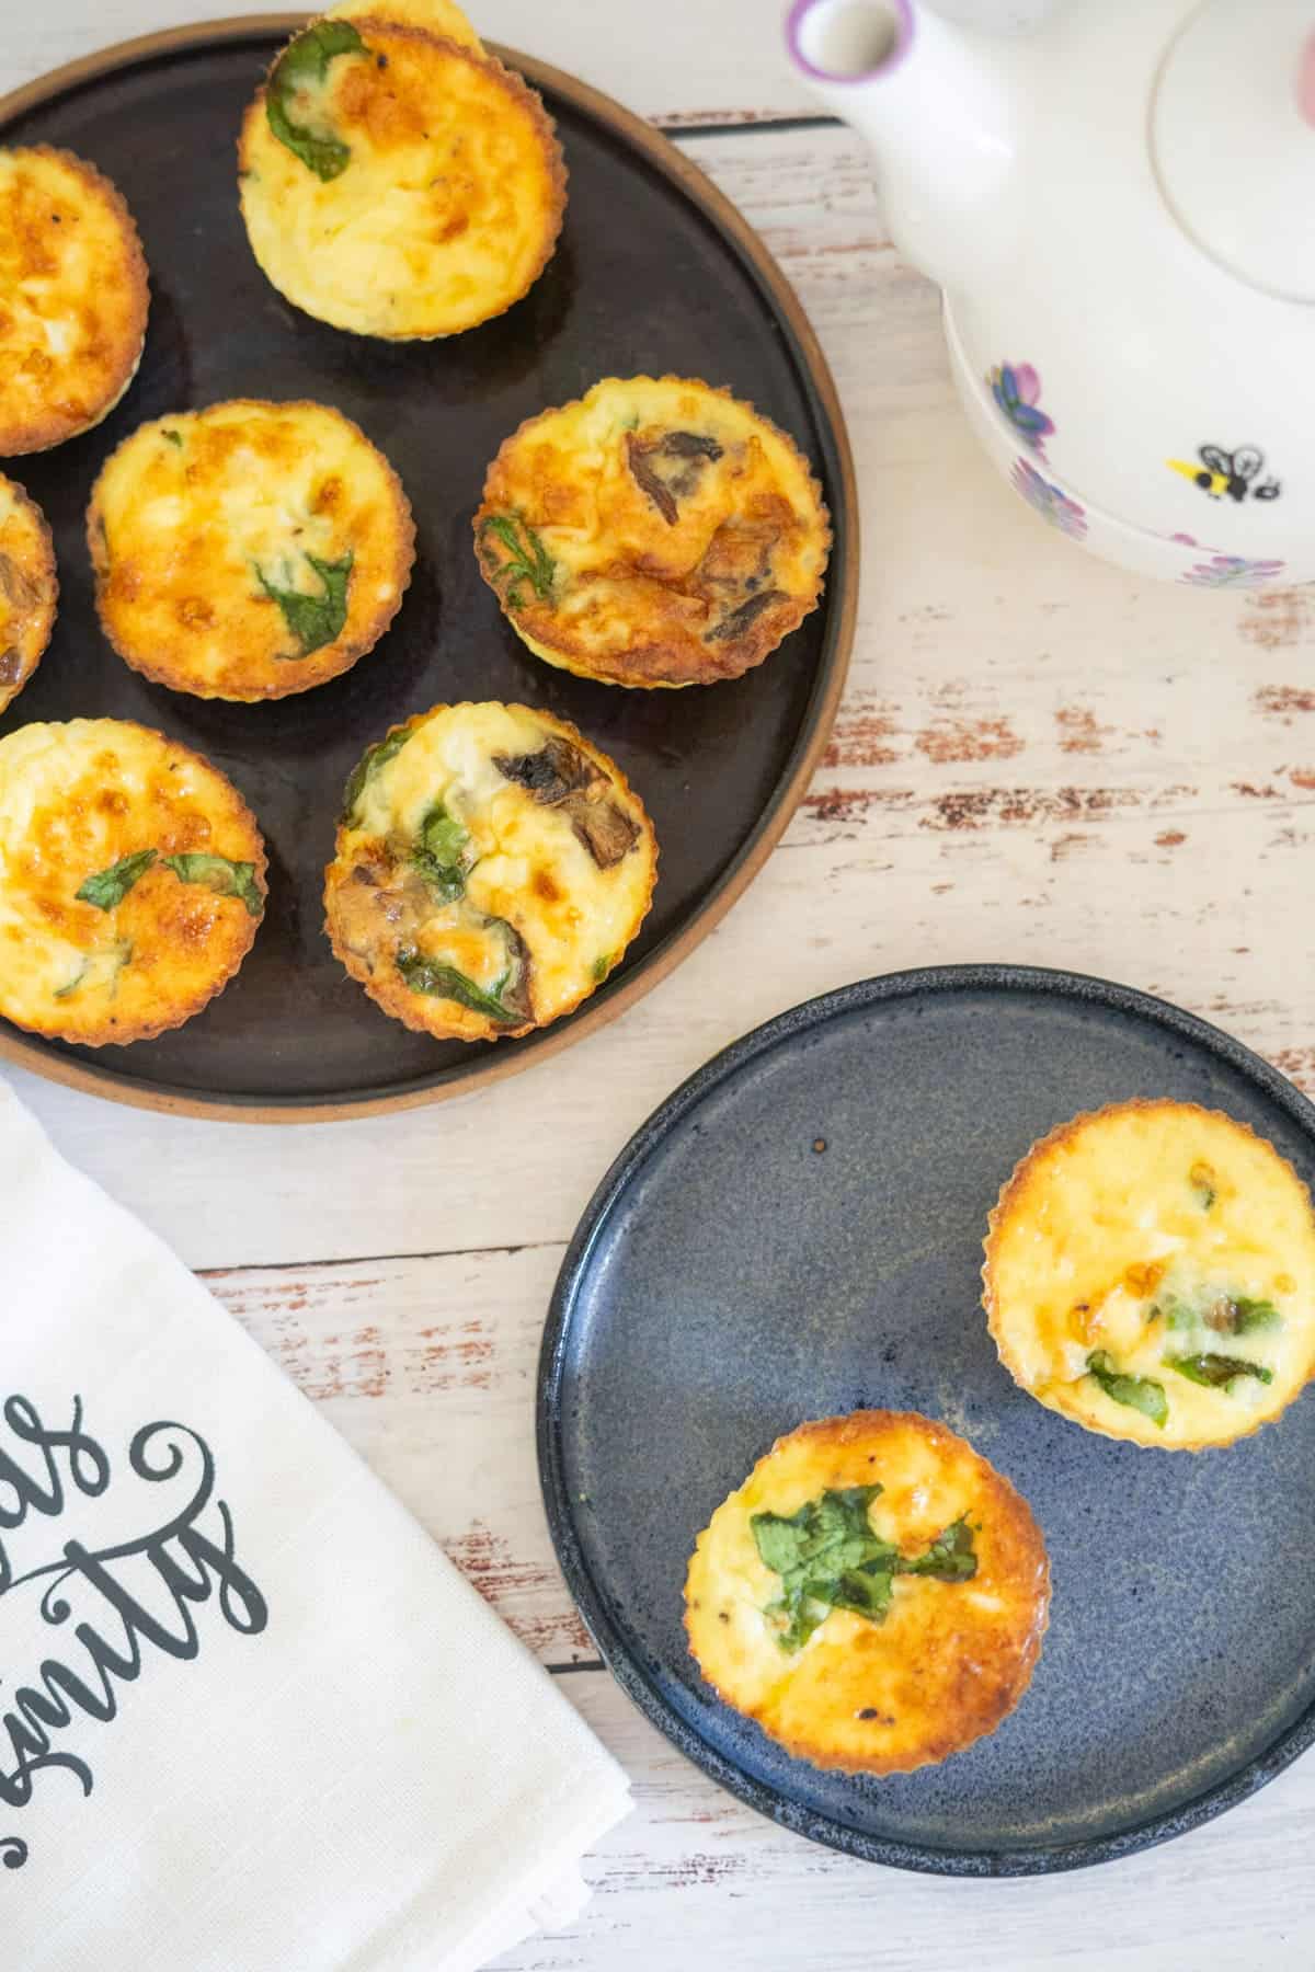
[[[1027,1503],[944,1424],[779,1438],[698,1536],[684,1627],[729,1706],[814,1767],[911,1773],[1027,1690],[1051,1572]]]

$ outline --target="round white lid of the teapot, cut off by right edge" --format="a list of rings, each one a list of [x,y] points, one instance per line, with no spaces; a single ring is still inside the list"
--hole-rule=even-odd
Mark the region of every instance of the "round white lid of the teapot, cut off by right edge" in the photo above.
[[[1287,302],[1315,302],[1315,4],[1207,0],[1151,108],[1159,187],[1197,246]]]

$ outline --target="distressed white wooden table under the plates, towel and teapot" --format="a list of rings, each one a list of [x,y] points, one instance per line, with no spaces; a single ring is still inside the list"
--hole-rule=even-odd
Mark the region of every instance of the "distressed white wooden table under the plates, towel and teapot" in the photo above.
[[[0,91],[217,12],[223,0],[14,0]],[[71,1160],[203,1270],[633,1775],[635,1814],[588,1862],[586,1915],[503,1972],[1311,1972],[1311,1755],[1181,1842],[1053,1881],[887,1873],[722,1795],[593,1658],[548,1544],[532,1392],[564,1242],[613,1154],[698,1063],[810,994],[942,960],[1074,966],[1205,1014],[1315,1091],[1315,588],[1142,586],[1002,495],[950,392],[936,296],[895,260],[860,144],[812,118],[773,0],[473,12],[489,37],[672,130],[816,323],[850,418],[867,564],[834,743],[753,889],[582,1043],[586,1059],[292,1134],[168,1120],[22,1075],[18,1089]]]

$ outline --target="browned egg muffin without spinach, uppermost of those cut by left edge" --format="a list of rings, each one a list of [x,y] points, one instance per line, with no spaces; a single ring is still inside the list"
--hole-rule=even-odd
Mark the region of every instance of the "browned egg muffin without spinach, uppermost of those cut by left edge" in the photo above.
[[[146,341],[142,243],[122,197],[69,150],[0,150],[0,458],[99,424]]]

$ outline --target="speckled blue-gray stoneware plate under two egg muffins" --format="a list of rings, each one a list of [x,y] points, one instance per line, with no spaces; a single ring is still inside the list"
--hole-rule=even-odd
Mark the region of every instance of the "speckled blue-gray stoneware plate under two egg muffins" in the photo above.
[[[643,1126],[562,1266],[540,1367],[544,1497],[607,1664],[696,1765],[873,1862],[1023,1875],[1163,1842],[1315,1739],[1315,1392],[1203,1453],[1114,1444],[1025,1396],[980,1307],[982,1236],[1027,1146],[1169,1094],[1315,1179],[1315,1108],[1238,1041],[1067,972],[867,980],[737,1041]],[[1055,1595],[1017,1712],[889,1779],[791,1759],[702,1684],[694,1536],[771,1442],[921,1410],[1021,1489]]]

